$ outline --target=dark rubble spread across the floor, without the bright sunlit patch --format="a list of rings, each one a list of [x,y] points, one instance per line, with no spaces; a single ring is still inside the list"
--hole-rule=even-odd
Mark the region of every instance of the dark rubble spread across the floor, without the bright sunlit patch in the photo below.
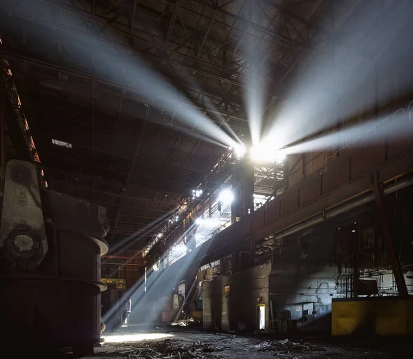
[[[90,359],[380,359],[395,358],[391,355],[394,347],[397,347],[398,353],[408,351],[408,340],[396,343],[369,340],[361,345],[360,342],[342,338],[275,340],[270,336],[234,337],[185,331],[176,332],[174,337],[167,339],[103,344]]]

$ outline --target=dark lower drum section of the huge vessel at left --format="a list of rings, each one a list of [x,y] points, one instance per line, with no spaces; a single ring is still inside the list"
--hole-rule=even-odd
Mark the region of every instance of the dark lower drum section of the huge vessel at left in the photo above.
[[[0,280],[3,349],[16,338],[38,347],[81,345],[100,338],[100,289],[74,280]],[[87,300],[85,300],[87,298]],[[10,340],[9,342],[7,340]]]

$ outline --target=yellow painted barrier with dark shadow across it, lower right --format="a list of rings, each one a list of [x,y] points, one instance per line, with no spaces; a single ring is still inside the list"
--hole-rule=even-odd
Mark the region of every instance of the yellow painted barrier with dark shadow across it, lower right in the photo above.
[[[413,297],[332,300],[332,335],[413,336]]]

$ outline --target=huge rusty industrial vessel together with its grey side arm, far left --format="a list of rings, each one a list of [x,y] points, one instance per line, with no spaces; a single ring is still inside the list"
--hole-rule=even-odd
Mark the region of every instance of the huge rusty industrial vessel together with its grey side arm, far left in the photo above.
[[[90,353],[100,339],[106,289],[100,282],[106,209],[40,183],[34,164],[13,160],[0,185],[2,348],[17,342],[19,350]]]

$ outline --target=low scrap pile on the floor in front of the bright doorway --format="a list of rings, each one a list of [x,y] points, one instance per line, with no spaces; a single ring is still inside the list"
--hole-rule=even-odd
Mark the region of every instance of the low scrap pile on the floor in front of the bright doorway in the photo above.
[[[296,354],[313,353],[315,351],[326,351],[319,345],[311,345],[307,342],[291,342],[288,339],[271,340],[265,342],[251,341],[244,344],[245,347],[255,348],[257,351],[273,351],[275,356],[294,359]]]

